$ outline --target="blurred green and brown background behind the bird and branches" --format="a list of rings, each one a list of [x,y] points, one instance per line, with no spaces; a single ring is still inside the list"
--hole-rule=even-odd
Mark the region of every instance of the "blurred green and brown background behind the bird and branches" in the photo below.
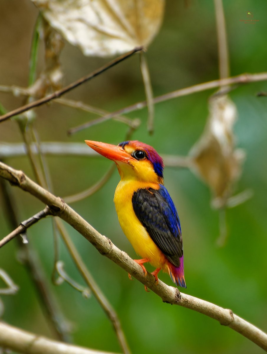
[[[230,52],[231,75],[266,71],[266,1],[224,1]],[[255,25],[240,22],[246,12],[259,19]],[[29,0],[0,2],[0,73],[2,85],[27,86],[31,36],[38,14]],[[40,49],[39,69],[43,65]],[[167,1],[162,28],[147,51],[154,95],[218,78],[217,41],[213,1]],[[65,45],[61,62],[64,84],[91,72],[108,59],[84,57],[75,47]],[[244,204],[226,211],[228,242],[216,247],[219,214],[210,207],[210,191],[189,170],[165,169],[165,185],[177,206],[181,219],[185,253],[186,293],[230,308],[234,313],[267,330],[267,98],[256,97],[267,91],[266,82],[238,87],[230,96],[238,108],[234,126],[237,146],[246,152],[243,173],[236,193],[251,188],[254,196]],[[208,115],[207,100],[213,91],[205,91],[173,99],[155,106],[155,134],[146,131],[147,110],[133,112],[142,124],[133,139],[153,145],[159,154],[186,155],[203,131]],[[138,56],[134,56],[108,72],[75,89],[68,98],[113,111],[143,101],[144,87]],[[22,98],[0,93],[0,102],[8,109],[22,104]],[[94,118],[90,114],[50,104],[36,109],[34,123],[41,141],[83,142],[84,139],[118,143],[124,140],[127,127],[115,121],[93,126],[72,137],[66,131]],[[0,125],[1,142],[21,142],[16,122]],[[110,167],[101,158],[48,157],[54,193],[66,196],[88,188]],[[6,161],[23,169],[33,178],[26,157]],[[131,257],[136,255],[117,221],[113,204],[119,181],[117,171],[109,182],[91,197],[71,206],[100,233]],[[15,187],[13,187],[15,188]],[[42,208],[41,202],[15,189],[19,220]],[[4,210],[0,214],[1,238],[11,230]],[[80,234],[66,225],[82,258],[116,309],[133,353],[261,353],[262,350],[233,330],[221,326],[197,312],[162,303],[154,293],[146,293],[138,281],[101,256]],[[43,220],[30,228],[28,236],[36,247],[47,278],[53,267],[51,220]],[[83,284],[64,246],[60,259],[74,279]],[[17,260],[16,242],[0,250],[0,267],[5,269],[19,291],[2,296],[3,320],[42,335],[51,336],[42,315],[28,274]],[[152,270],[148,266],[149,270]],[[172,282],[167,274],[159,278]],[[51,283],[50,283],[51,284]],[[4,284],[0,283],[1,286]],[[92,296],[85,299],[64,283],[51,289],[61,309],[73,326],[76,344],[89,348],[121,352],[116,335],[103,310]]]

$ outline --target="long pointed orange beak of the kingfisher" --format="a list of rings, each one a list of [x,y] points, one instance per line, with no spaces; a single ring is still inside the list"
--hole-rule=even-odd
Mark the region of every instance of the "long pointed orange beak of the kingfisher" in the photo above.
[[[134,158],[125,152],[121,146],[101,143],[93,140],[85,140],[85,142],[90,148],[110,160],[122,161],[125,163],[128,163],[129,160],[134,160]]]

